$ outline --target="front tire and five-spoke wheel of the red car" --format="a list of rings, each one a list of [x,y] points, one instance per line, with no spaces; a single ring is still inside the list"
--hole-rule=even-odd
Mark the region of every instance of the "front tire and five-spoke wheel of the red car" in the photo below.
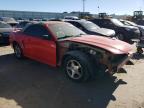
[[[92,65],[88,56],[80,51],[72,51],[63,61],[63,71],[75,82],[86,82],[92,74]]]

